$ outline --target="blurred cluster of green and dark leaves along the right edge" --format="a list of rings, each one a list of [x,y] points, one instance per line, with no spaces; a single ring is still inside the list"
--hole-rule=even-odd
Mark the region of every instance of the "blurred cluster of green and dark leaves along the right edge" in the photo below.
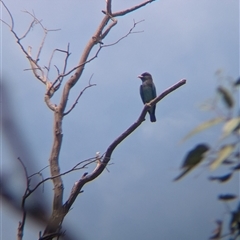
[[[219,73],[218,73],[219,74]],[[200,143],[190,150],[183,161],[181,173],[174,180],[177,181],[184,177],[188,172],[196,168],[203,161],[207,161],[211,171],[220,166],[227,167],[227,173],[221,176],[210,176],[210,181],[225,183],[240,170],[240,115],[238,102],[238,88],[240,80],[234,80],[229,77],[219,76],[219,79],[225,81],[216,89],[215,98],[204,105],[204,108],[216,113],[216,117],[201,123],[190,131],[182,140],[200,134],[203,131],[210,131],[212,127],[221,124],[221,134],[216,138],[215,146],[207,143]],[[207,106],[207,107],[206,107]],[[239,199],[239,196],[232,193],[220,194],[219,201],[224,203]],[[222,233],[223,221],[217,220],[217,228],[209,239],[223,239],[231,236],[231,239],[237,239],[240,236],[240,202],[236,210],[228,209],[230,217],[229,233]]]

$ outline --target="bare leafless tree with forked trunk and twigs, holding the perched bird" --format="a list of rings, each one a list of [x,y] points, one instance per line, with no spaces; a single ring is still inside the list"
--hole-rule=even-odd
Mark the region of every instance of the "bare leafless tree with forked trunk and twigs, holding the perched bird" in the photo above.
[[[2,2],[2,0],[0,0],[0,1]],[[79,59],[79,62],[77,64],[77,66],[75,68],[72,68],[70,71],[66,70],[67,69],[67,61],[68,61],[68,58],[70,56],[69,45],[68,45],[68,48],[67,48],[66,51],[65,50],[60,50],[60,49],[55,49],[53,51],[51,57],[50,57],[48,67],[47,68],[46,67],[45,68],[40,67],[40,65],[38,63],[39,58],[40,58],[43,46],[45,44],[45,39],[46,39],[47,33],[51,30],[46,29],[42,25],[41,21],[38,20],[35,17],[34,14],[31,14],[31,13],[25,11],[34,20],[30,24],[30,26],[28,27],[27,31],[25,32],[25,34],[23,35],[22,38],[25,38],[27,36],[30,29],[34,26],[34,23],[35,24],[40,24],[40,26],[42,27],[42,29],[44,31],[44,36],[43,36],[43,39],[42,39],[41,44],[39,46],[36,59],[32,58],[31,47],[28,48],[28,51],[25,50],[24,46],[20,42],[22,38],[19,38],[18,35],[16,34],[16,32],[14,31],[13,17],[11,15],[10,11],[8,10],[8,8],[5,6],[5,4],[3,4],[5,9],[7,10],[8,14],[9,14],[10,18],[11,18],[11,25],[9,25],[5,22],[4,23],[8,27],[10,27],[11,32],[13,33],[15,38],[17,39],[18,45],[21,47],[23,53],[28,58],[28,60],[30,62],[30,65],[31,65],[31,70],[32,70],[33,74],[35,75],[35,77],[46,85],[45,102],[46,102],[47,106],[54,112],[53,145],[52,145],[52,149],[51,149],[51,153],[50,153],[50,157],[49,157],[51,177],[42,180],[40,183],[38,183],[35,186],[35,188],[33,188],[31,190],[28,186],[27,189],[26,189],[25,195],[24,195],[25,196],[24,201],[25,201],[25,199],[31,194],[31,192],[35,191],[45,181],[50,180],[50,179],[53,181],[53,185],[54,185],[53,210],[52,210],[51,217],[50,217],[49,222],[48,222],[48,224],[45,228],[45,231],[44,231],[43,235],[40,234],[41,239],[52,239],[54,236],[57,236],[61,232],[61,224],[64,220],[64,217],[68,213],[69,209],[71,208],[71,206],[74,203],[75,199],[77,198],[78,194],[81,192],[82,187],[87,182],[92,181],[93,179],[97,178],[102,173],[102,171],[106,168],[108,162],[110,161],[111,155],[112,155],[112,152],[114,151],[114,149],[126,137],[128,137],[135,129],[137,129],[141,125],[141,123],[145,120],[145,115],[147,114],[147,111],[149,110],[149,108],[151,106],[155,105],[157,102],[159,102],[162,98],[164,98],[170,92],[174,91],[175,89],[177,89],[178,87],[180,87],[180,86],[182,86],[183,84],[186,83],[186,80],[182,80],[182,81],[178,82],[174,86],[172,86],[169,89],[167,89],[166,91],[164,91],[161,95],[159,95],[157,98],[152,100],[150,103],[146,104],[144,106],[143,111],[140,114],[140,117],[138,118],[138,120],[135,123],[133,123],[132,126],[130,126],[115,141],[113,141],[113,143],[108,147],[107,152],[104,154],[104,156],[96,157],[92,161],[84,164],[83,166],[74,167],[73,169],[71,169],[71,170],[69,170],[65,173],[60,172],[59,155],[60,155],[60,149],[61,149],[61,144],[62,144],[62,140],[63,140],[63,134],[62,134],[63,117],[73,110],[73,108],[76,106],[76,104],[77,104],[79,98],[81,97],[81,95],[83,94],[83,92],[86,89],[88,89],[89,87],[94,86],[95,84],[91,84],[89,82],[89,85],[86,86],[79,93],[79,95],[78,95],[77,99],[75,100],[74,104],[72,105],[72,107],[67,112],[65,112],[67,102],[68,102],[68,98],[69,98],[69,94],[70,94],[70,90],[75,86],[75,84],[78,82],[78,80],[82,76],[85,65],[87,63],[91,62],[93,59],[95,59],[98,56],[99,52],[101,51],[101,49],[103,47],[108,47],[108,46],[112,46],[114,44],[117,44],[122,39],[124,39],[127,36],[129,36],[130,34],[134,33],[133,29],[135,28],[135,26],[138,23],[141,22],[141,21],[139,21],[139,22],[134,21],[134,25],[129,30],[129,32],[125,36],[118,39],[115,43],[112,43],[112,44],[109,44],[109,45],[103,45],[102,40],[106,38],[108,33],[111,31],[111,29],[114,26],[116,26],[116,24],[117,24],[116,17],[123,16],[123,15],[126,15],[128,13],[131,13],[131,12],[133,12],[133,11],[135,11],[135,10],[141,8],[141,7],[144,7],[145,5],[147,5],[151,2],[154,2],[154,1],[155,0],[145,1],[141,4],[139,4],[139,5],[136,5],[136,6],[133,6],[133,7],[129,8],[129,9],[125,9],[125,10],[122,10],[122,11],[112,13],[112,1],[111,0],[106,0],[106,11],[102,11],[105,14],[103,19],[101,20],[101,22],[100,22],[99,26],[97,27],[95,33],[89,39],[86,47],[84,48],[83,53],[82,53],[82,55]],[[98,47],[95,55],[93,57],[89,57],[92,49],[96,45],[99,45],[99,47]],[[57,69],[57,77],[52,83],[48,79],[48,74],[49,74],[49,71],[50,71],[50,68],[51,68],[53,55],[57,51],[65,53],[66,57],[65,57],[65,62],[64,62],[64,66],[63,66],[62,71],[60,70],[60,68],[55,66],[56,69]],[[57,91],[60,88],[64,77],[68,76],[71,73],[73,73],[73,75],[69,77],[69,79],[66,81],[66,83],[63,87],[60,102],[57,105],[51,103],[50,99],[53,96],[53,94],[55,93],[55,91]],[[92,162],[97,162],[95,169],[90,174],[88,174],[88,173],[83,174],[81,179],[74,184],[74,186],[72,188],[72,192],[71,192],[68,200],[63,204],[63,189],[64,188],[63,188],[62,176],[64,174],[67,174],[67,173],[73,171],[73,170],[82,169],[82,168],[86,167],[87,165],[91,164]],[[24,204],[24,202],[23,202],[23,204]]]

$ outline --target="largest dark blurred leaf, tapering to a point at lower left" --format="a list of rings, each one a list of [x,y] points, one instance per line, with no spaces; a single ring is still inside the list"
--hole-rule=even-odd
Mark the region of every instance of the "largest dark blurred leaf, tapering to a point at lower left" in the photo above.
[[[174,179],[174,181],[179,180],[184,175],[186,175],[190,170],[196,167],[205,157],[205,153],[209,150],[208,145],[198,144],[194,149],[187,153],[183,164],[182,164],[182,173]]]

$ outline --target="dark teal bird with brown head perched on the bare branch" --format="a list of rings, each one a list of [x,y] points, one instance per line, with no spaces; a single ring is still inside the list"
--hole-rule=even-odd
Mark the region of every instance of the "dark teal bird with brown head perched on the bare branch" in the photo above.
[[[141,95],[142,101],[144,104],[149,103],[151,100],[153,100],[157,96],[156,88],[153,83],[152,76],[150,73],[145,72],[139,75],[138,77],[142,80],[142,85],[140,86],[140,95]],[[155,109],[156,109],[156,105],[154,105],[148,110],[151,122],[156,122]]]

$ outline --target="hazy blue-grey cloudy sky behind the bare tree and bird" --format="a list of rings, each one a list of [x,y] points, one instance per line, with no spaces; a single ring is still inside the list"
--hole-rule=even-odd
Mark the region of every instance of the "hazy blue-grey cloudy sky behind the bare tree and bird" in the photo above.
[[[113,1],[113,11],[138,4],[140,1]],[[48,64],[54,48],[66,49],[70,43],[68,69],[75,67],[87,41],[103,18],[105,1],[5,1],[15,20],[15,31],[23,35],[31,17],[22,12],[34,11],[49,32],[40,57],[41,66]],[[10,18],[1,9],[1,18]],[[125,131],[142,111],[137,75],[152,74],[161,93],[182,78],[187,84],[171,93],[157,105],[157,122],[146,121],[114,151],[104,173],[84,186],[65,224],[82,239],[207,239],[215,228],[215,219],[228,221],[225,206],[217,195],[239,191],[239,177],[223,185],[207,180],[210,174],[223,173],[220,168],[209,172],[206,164],[179,182],[185,153],[199,142],[214,145],[218,132],[202,133],[186,143],[179,141],[196,125],[212,118],[199,106],[212,98],[217,86],[215,72],[239,76],[239,1],[237,0],[161,0],[118,18],[118,24],[104,39],[110,44],[125,35],[133,20],[145,20],[135,33],[101,51],[98,58],[86,65],[84,74],[71,91],[70,107],[79,92],[88,89],[78,105],[64,118],[61,171],[77,162],[104,153],[109,144]],[[42,41],[42,30],[35,27],[23,40],[36,55]],[[97,48],[96,48],[97,49]],[[95,50],[96,50],[95,49]],[[92,55],[94,55],[94,51]],[[63,55],[56,54],[54,64],[62,66]],[[31,152],[35,171],[48,165],[52,144],[53,114],[45,105],[45,86],[34,78],[29,62],[16,44],[8,27],[1,24],[1,72],[9,92],[11,111]],[[52,68],[51,77],[56,71]],[[53,98],[58,103],[59,93]],[[9,177],[9,187],[21,196],[25,190],[23,170],[12,151],[11,143],[2,139],[1,168]],[[85,171],[74,172],[64,180],[64,198]],[[29,174],[32,174],[29,173]],[[48,169],[44,177],[49,176]],[[40,179],[37,179],[40,180]],[[51,208],[52,185],[46,183],[43,198]],[[19,198],[19,202],[21,198]],[[236,207],[236,202],[230,205]],[[1,237],[16,238],[21,215],[2,202]],[[227,223],[227,222],[226,222]],[[36,239],[42,230],[27,221],[24,239]]]

